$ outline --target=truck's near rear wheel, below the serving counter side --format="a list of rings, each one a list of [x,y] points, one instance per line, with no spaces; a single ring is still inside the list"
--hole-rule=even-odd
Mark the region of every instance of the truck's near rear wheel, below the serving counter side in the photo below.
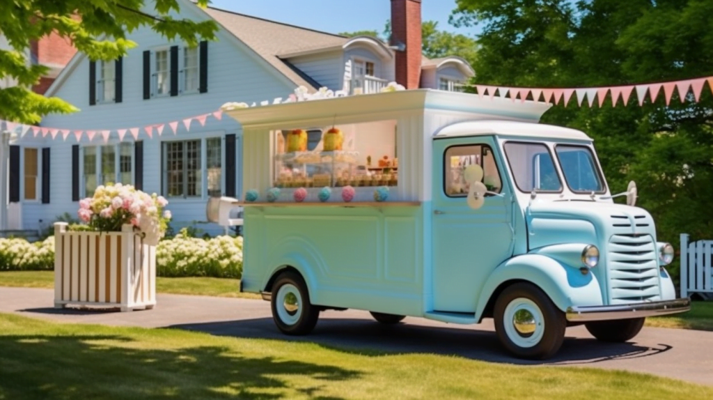
[[[272,319],[284,334],[309,334],[317,325],[319,309],[309,302],[307,284],[299,274],[284,272],[272,285]]]

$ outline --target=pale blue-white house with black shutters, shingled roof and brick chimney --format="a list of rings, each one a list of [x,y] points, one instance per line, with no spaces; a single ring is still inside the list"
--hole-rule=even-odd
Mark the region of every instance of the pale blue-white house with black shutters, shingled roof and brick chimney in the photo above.
[[[164,195],[174,227],[205,221],[211,195],[242,193],[242,130],[235,120],[194,121],[190,130],[180,123],[175,134],[166,125],[151,137],[146,125],[217,111],[229,101],[272,102],[297,86],[358,94],[397,81],[407,88],[458,90],[456,83],[473,76],[461,58],[421,56],[420,0],[391,1],[394,46],[180,3],[176,18],[214,19],[218,40],[188,48],[140,29],[129,37],[138,47],[127,56],[92,62],[78,53],[48,89],[47,96],[81,111],[47,116],[43,126],[111,133],[106,144],[99,134],[63,140],[31,131],[12,143],[9,198],[21,224],[15,228],[47,227],[64,212],[76,215],[78,200],[108,182]],[[120,140],[122,128],[140,128],[140,134]],[[202,229],[219,232],[214,225]]]

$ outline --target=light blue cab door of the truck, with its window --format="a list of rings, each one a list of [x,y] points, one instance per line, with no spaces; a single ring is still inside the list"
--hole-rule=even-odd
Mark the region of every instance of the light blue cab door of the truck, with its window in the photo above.
[[[513,253],[505,164],[489,136],[433,143],[433,307],[438,312],[475,312],[488,275]],[[471,164],[481,165],[488,190],[504,197],[488,195],[483,207],[468,207],[463,169]]]

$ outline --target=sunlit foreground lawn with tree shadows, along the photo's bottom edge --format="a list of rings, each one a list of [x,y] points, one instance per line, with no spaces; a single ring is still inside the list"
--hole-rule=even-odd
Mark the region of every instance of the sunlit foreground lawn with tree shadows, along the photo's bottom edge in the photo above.
[[[624,371],[348,352],[0,314],[0,399],[710,399]]]

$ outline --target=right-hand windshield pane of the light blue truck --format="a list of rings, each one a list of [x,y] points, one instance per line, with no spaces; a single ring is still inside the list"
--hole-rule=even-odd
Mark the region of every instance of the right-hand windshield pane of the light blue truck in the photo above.
[[[562,173],[573,192],[602,192],[604,185],[599,168],[590,148],[575,145],[557,145],[555,152],[560,160]]]

